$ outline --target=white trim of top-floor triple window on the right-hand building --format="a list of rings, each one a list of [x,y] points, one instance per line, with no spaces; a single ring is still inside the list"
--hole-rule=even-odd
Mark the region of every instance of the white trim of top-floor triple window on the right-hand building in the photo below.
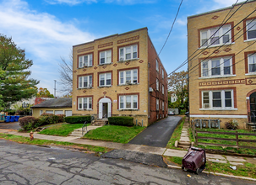
[[[222,26],[221,27],[221,29],[219,29],[219,27],[218,26],[216,26],[215,28],[210,28],[210,29],[203,29],[203,30],[200,30],[200,48],[206,48],[206,47],[216,47],[216,46],[220,46],[220,45],[223,45],[224,44],[224,42],[223,42],[223,34],[225,34],[226,32],[224,32],[223,31],[223,29],[224,28],[226,28],[227,26],[229,26],[229,32],[228,32],[228,34],[230,35],[230,37],[229,37],[229,41],[228,42],[226,42],[226,44],[225,45],[230,45],[231,44],[231,38],[232,38],[232,35],[231,35],[231,24],[227,24],[227,25],[224,25],[224,26]],[[216,45],[212,45],[212,44],[210,44],[210,38],[211,38],[211,34],[210,34],[210,30],[211,29],[219,29],[218,30],[218,32],[219,32],[219,41],[220,41],[220,43],[219,44],[216,44]],[[203,46],[203,44],[204,43],[202,43],[202,33],[203,32],[207,32],[207,45],[204,45]]]

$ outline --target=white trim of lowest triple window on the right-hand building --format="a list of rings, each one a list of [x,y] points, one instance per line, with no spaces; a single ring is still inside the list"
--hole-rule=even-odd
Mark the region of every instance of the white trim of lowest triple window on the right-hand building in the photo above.
[[[204,92],[209,92],[209,108],[204,108]],[[213,96],[212,92],[221,92],[221,107],[214,108],[213,103]],[[225,106],[225,92],[231,92],[231,107],[224,107]],[[202,99],[202,107],[199,110],[237,110],[234,108],[234,92],[232,89],[224,89],[224,90],[213,90],[213,91],[202,91],[201,92]]]

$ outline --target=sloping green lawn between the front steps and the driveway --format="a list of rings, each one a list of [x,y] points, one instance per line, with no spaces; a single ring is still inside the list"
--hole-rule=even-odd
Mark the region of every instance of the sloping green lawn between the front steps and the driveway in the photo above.
[[[90,130],[89,133],[84,135],[84,138],[91,140],[108,140],[117,143],[128,143],[133,137],[138,135],[145,127],[133,126],[116,126],[105,125],[98,129]]]

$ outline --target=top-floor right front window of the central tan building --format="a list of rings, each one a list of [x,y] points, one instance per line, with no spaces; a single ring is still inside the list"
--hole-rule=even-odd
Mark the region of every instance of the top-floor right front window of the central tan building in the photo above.
[[[138,45],[128,45],[119,48],[119,61],[126,61],[138,58]]]

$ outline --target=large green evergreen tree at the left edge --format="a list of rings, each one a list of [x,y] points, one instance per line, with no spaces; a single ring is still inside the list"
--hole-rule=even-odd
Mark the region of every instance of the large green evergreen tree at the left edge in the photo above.
[[[25,50],[15,45],[12,38],[0,34],[0,94],[3,96],[3,107],[21,99],[31,98],[36,94],[39,81],[30,79],[28,71],[33,61],[25,59]]]

